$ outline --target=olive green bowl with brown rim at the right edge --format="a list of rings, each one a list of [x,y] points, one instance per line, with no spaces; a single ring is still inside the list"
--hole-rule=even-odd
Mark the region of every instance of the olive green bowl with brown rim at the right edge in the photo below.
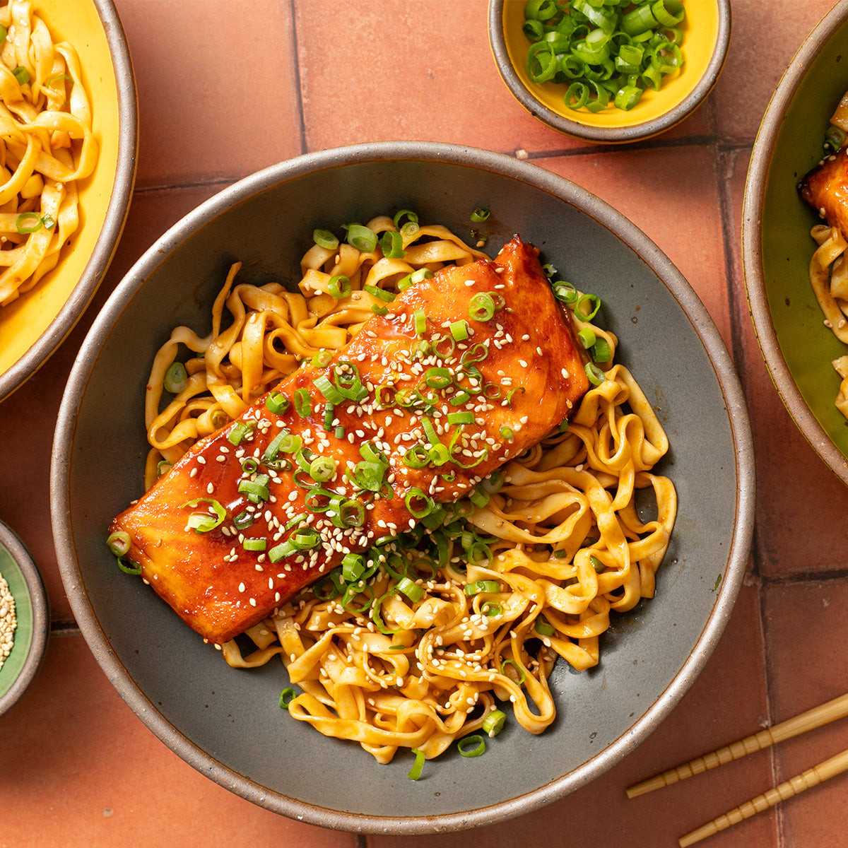
[[[840,377],[831,361],[848,347],[823,325],[809,265],[820,223],[795,184],[823,155],[824,132],[848,90],[848,3],[839,3],[789,64],[763,117],[751,156],[742,215],[750,315],[762,356],[789,415],[848,485],[848,426],[834,406]]]

